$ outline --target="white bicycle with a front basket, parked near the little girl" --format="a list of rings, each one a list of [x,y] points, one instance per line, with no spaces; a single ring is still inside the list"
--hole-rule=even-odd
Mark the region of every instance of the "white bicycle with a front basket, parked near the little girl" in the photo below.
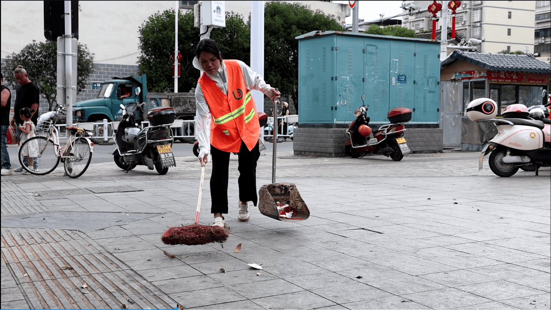
[[[91,132],[75,126],[67,126],[66,130],[71,135],[67,137],[65,147],[61,147],[55,126],[57,120],[53,121],[59,113],[67,115],[67,109],[59,105],[55,111],[40,115],[36,131],[40,131],[41,134],[29,138],[19,147],[19,163],[23,169],[31,174],[45,175],[55,170],[62,162],[65,173],[70,178],[78,178],[88,169],[92,160],[94,143],[88,138],[88,136],[91,136]],[[38,145],[38,157],[29,158],[21,153],[21,149],[28,146],[29,143]],[[33,146],[33,144],[30,144],[30,146]]]

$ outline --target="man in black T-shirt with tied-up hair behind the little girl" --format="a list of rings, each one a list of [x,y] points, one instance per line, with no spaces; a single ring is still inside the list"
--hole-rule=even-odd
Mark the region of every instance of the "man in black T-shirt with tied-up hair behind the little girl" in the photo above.
[[[19,116],[19,110],[29,108],[31,113],[30,119],[33,121],[34,125],[36,125],[36,120],[38,119],[40,90],[33,82],[31,82],[29,79],[29,74],[27,74],[27,71],[23,68],[23,66],[17,66],[13,74],[17,83],[21,86],[19,86],[15,91],[15,104],[13,106],[15,113],[13,114],[10,124],[17,124],[15,128],[17,129],[17,136],[20,137],[21,131],[19,130],[19,126],[23,125],[23,120],[21,120],[21,117]],[[15,168],[13,171],[21,172],[23,171],[23,167]]]

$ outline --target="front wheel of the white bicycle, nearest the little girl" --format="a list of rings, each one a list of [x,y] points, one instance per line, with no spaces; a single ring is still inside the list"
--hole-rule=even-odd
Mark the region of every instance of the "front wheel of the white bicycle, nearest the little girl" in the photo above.
[[[53,140],[44,136],[32,137],[23,142],[19,150],[28,148],[29,145],[33,146],[35,143],[38,145],[38,157],[29,160],[30,158],[28,156],[23,156],[23,154],[19,151],[19,163],[23,169],[32,174],[48,174],[56,169],[57,165],[60,163],[60,158],[56,156],[56,149],[53,145]]]

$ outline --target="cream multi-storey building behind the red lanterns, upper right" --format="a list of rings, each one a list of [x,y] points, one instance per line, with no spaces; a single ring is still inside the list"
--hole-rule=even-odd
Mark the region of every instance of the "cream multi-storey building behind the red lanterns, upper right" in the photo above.
[[[447,1],[442,2],[444,9]],[[461,1],[456,10],[456,33],[466,40],[482,40],[479,52],[497,53],[506,51],[522,51],[534,53],[534,29],[536,25],[536,2],[549,1]],[[427,8],[433,1],[404,1],[402,26],[415,32],[432,31],[432,14]],[[549,4],[548,4],[549,5]],[[412,9],[414,8],[414,9]],[[447,9],[447,6],[445,7]],[[448,9],[449,10],[449,9]],[[451,28],[451,10],[448,11],[447,26]],[[539,14],[539,18],[549,18],[549,10]],[[442,11],[436,24],[437,30],[442,28]],[[543,24],[544,23],[540,23]],[[549,24],[547,24],[549,25]],[[547,26],[549,27],[549,26]]]

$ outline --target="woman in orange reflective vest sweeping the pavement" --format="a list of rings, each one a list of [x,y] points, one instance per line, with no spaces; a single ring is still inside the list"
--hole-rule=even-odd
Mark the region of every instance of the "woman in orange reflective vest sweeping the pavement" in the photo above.
[[[227,227],[222,214],[228,213],[230,154],[238,154],[239,221],[248,221],[249,201],[256,206],[256,162],[260,157],[260,124],[251,90],[260,90],[269,98],[280,93],[264,82],[260,74],[239,60],[223,60],[217,42],[204,39],[197,45],[193,66],[201,70],[195,89],[199,142],[199,162],[212,159],[210,176],[210,212],[213,226]]]

